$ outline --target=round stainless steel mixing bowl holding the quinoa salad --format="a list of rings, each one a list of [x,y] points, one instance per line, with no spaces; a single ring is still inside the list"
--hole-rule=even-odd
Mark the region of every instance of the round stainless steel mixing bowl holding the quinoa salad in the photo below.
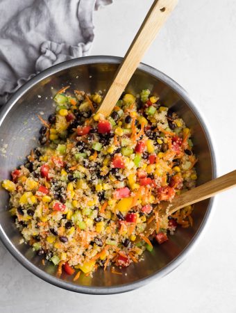
[[[105,90],[110,86],[121,58],[112,56],[92,56],[78,58],[53,66],[28,81],[8,101],[0,116],[0,147],[7,144],[6,154],[0,153],[0,181],[10,176],[10,171],[22,163],[23,158],[37,145],[40,121],[53,112],[51,97],[62,86],[71,85],[71,90],[87,92]],[[212,143],[198,109],[178,83],[162,72],[148,65],[141,64],[131,79],[127,90],[138,93],[149,88],[160,95],[162,101],[176,110],[193,131],[194,151],[199,162],[197,171],[198,184],[208,182],[215,176],[215,161]],[[38,277],[71,291],[85,294],[115,294],[141,287],[153,278],[161,278],[176,268],[189,251],[196,245],[208,222],[212,200],[196,204],[193,227],[179,227],[174,236],[153,252],[144,254],[145,260],[132,264],[122,271],[127,275],[114,275],[110,270],[99,269],[93,278],[81,275],[77,282],[70,276],[56,277],[56,268],[52,264],[42,265],[42,258],[33,250],[19,244],[21,235],[8,214],[8,193],[0,190],[0,237],[12,255],[29,271]]]

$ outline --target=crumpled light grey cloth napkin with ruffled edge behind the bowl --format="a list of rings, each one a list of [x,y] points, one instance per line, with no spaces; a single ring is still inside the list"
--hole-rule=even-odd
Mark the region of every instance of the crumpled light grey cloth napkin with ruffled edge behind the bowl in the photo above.
[[[0,106],[47,67],[86,56],[93,10],[112,0],[0,0]]]

